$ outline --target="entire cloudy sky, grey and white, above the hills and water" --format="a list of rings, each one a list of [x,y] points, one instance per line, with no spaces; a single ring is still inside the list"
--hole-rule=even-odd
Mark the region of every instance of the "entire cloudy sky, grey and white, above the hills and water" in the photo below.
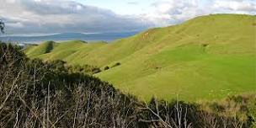
[[[123,32],[209,13],[256,14],[255,0],[0,0],[8,34]]]

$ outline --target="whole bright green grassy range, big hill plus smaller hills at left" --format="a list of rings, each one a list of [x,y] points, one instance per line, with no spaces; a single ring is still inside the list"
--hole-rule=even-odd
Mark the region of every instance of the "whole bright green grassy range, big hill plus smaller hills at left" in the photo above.
[[[113,43],[29,47],[29,57],[120,66],[96,74],[141,99],[219,99],[256,92],[256,17],[214,14]],[[50,50],[49,50],[50,49]]]

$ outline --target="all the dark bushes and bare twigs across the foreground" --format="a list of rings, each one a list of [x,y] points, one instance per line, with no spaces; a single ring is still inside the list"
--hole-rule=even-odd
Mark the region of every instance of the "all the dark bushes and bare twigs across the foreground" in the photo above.
[[[256,124],[255,95],[221,103],[143,103],[63,61],[29,60],[0,44],[0,127],[232,128]]]

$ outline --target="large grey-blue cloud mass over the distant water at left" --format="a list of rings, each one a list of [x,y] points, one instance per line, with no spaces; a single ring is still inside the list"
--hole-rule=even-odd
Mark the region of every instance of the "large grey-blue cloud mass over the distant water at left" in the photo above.
[[[3,0],[0,14],[8,24],[7,33],[113,32],[149,26],[136,16],[68,0]]]

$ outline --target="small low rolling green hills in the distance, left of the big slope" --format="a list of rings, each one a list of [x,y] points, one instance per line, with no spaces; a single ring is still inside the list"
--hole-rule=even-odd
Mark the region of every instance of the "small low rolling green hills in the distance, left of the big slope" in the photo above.
[[[70,40],[60,43],[56,43],[54,41],[46,41],[37,46],[29,46],[24,50],[24,52],[30,58],[41,58],[44,60],[63,60],[68,61],[71,64],[77,64],[77,61],[83,59],[83,55],[86,55],[88,51],[92,51],[93,49],[105,44],[106,42],[103,41],[94,42],[92,44],[88,44],[88,42],[82,40]]]

